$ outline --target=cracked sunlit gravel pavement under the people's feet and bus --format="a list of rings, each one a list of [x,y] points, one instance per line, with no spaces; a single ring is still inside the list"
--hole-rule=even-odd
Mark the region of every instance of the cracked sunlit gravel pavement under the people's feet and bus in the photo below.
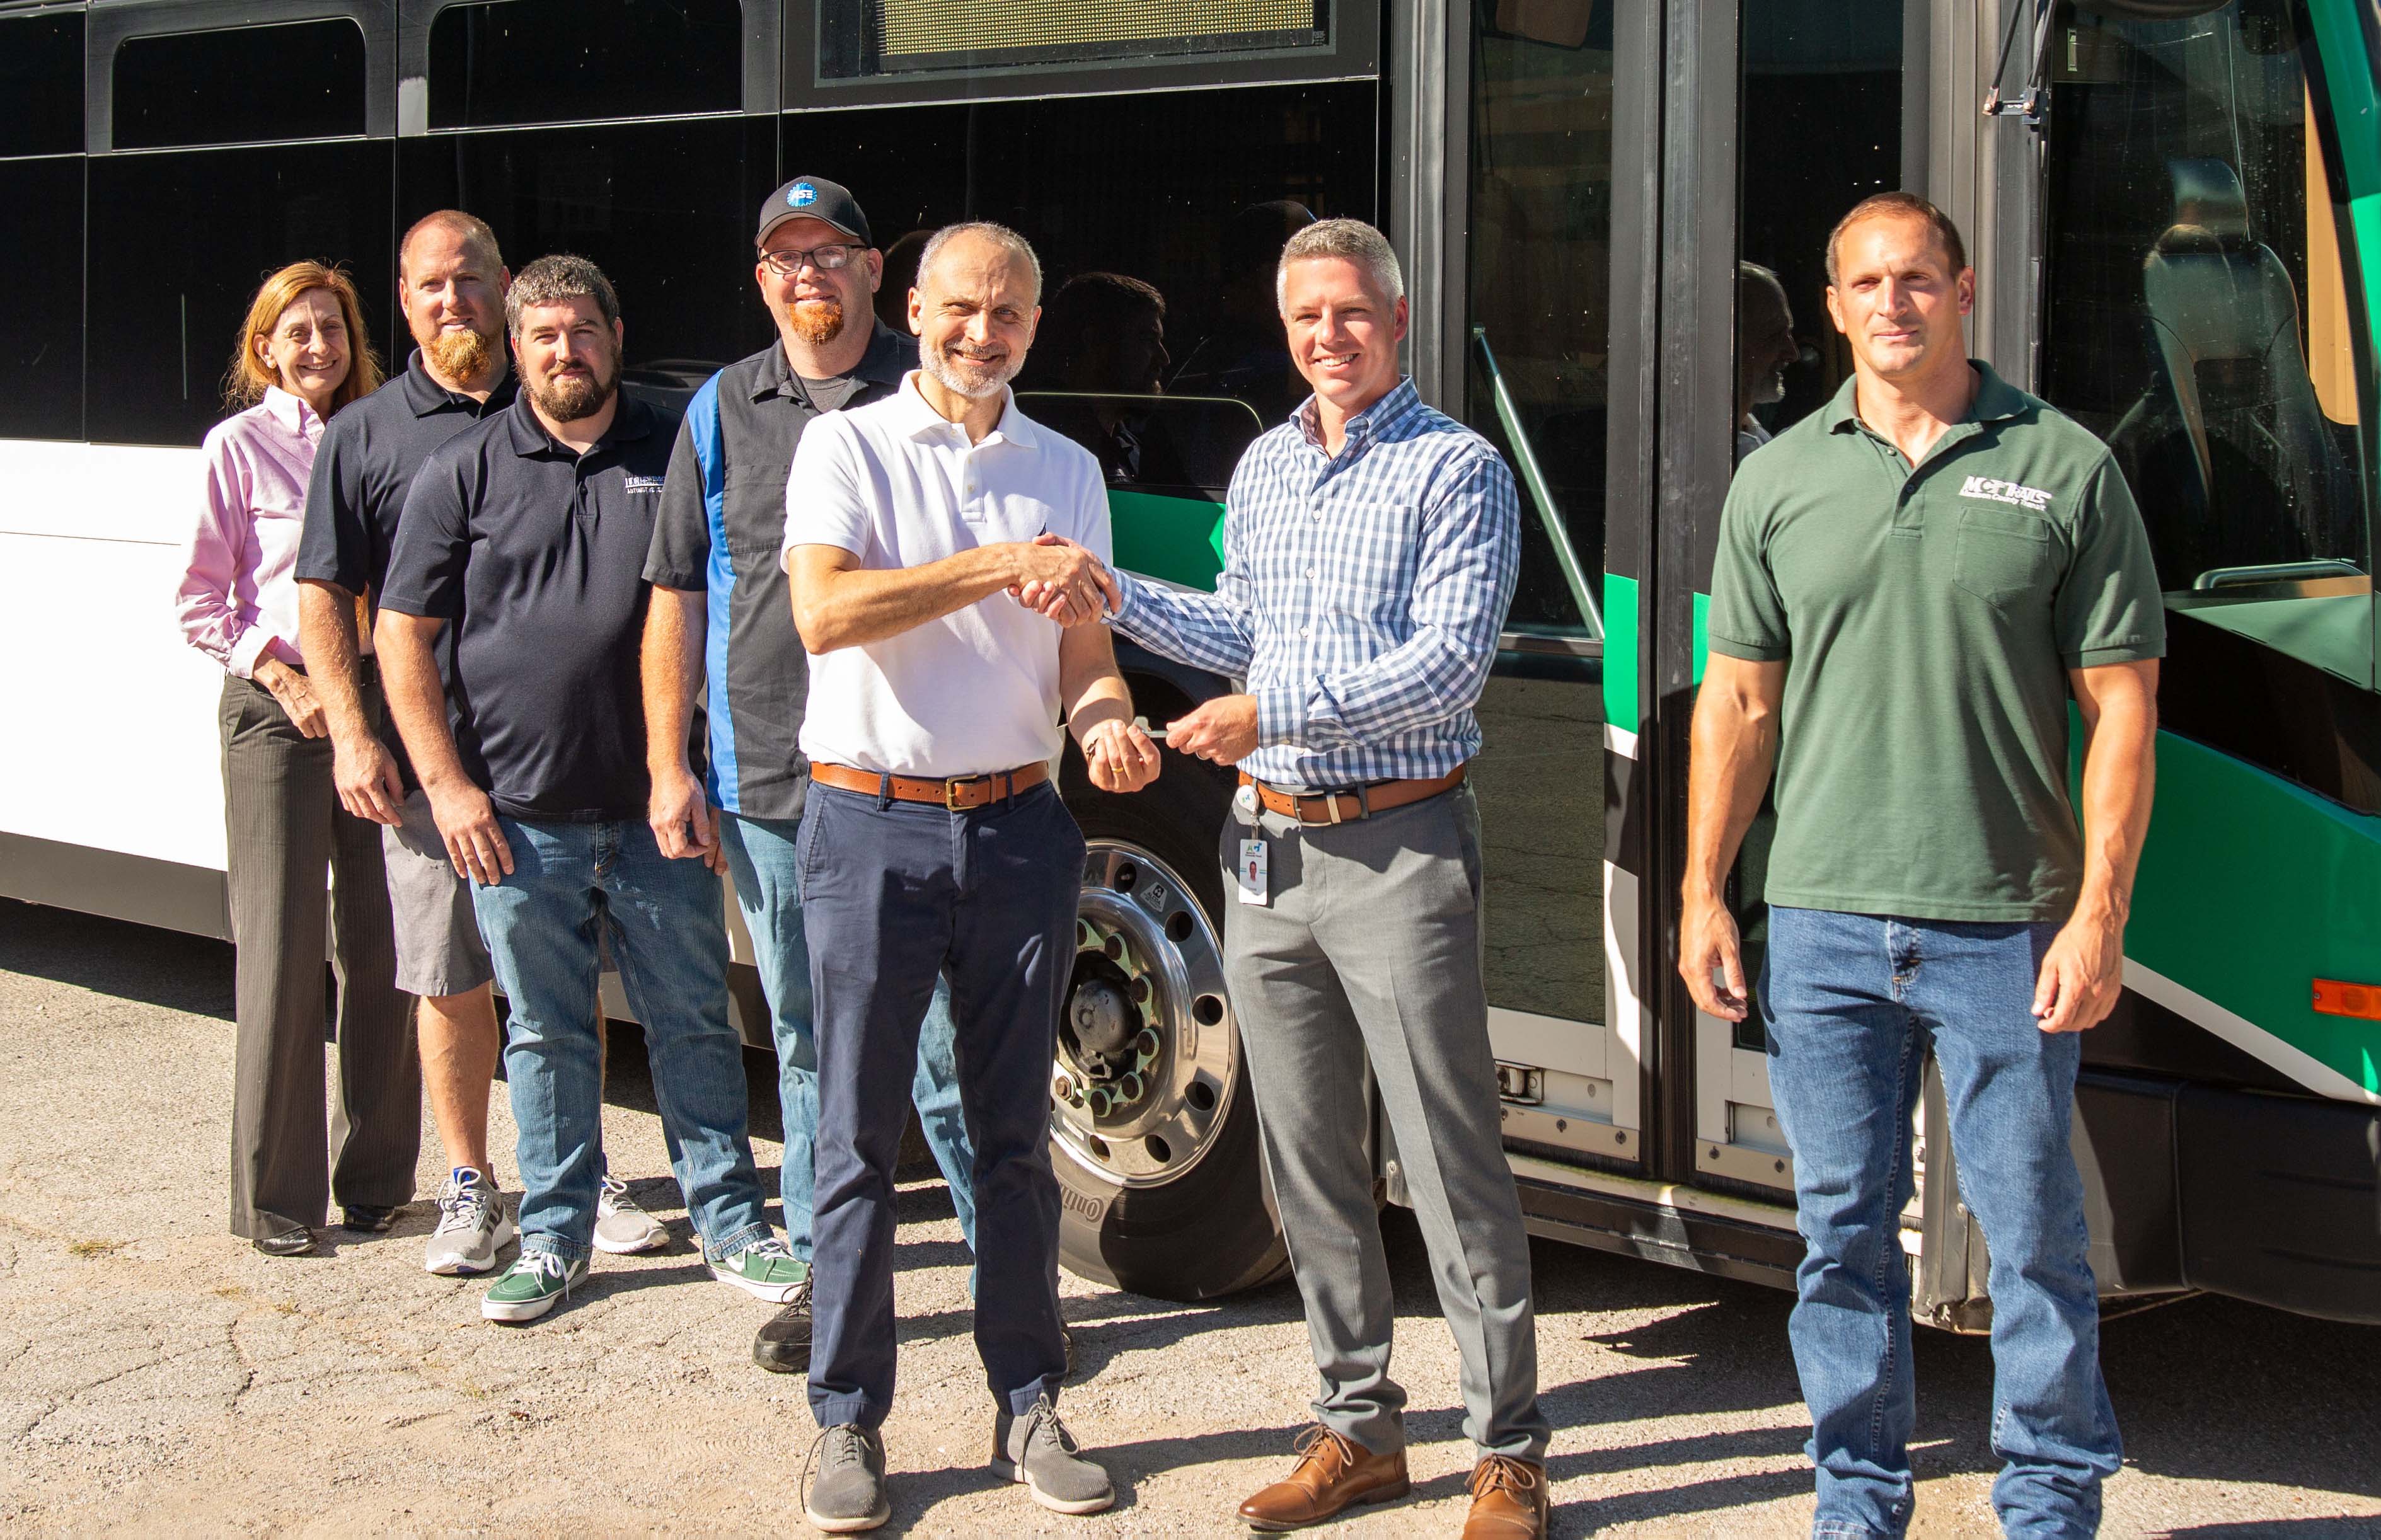
[[[674,1245],[598,1257],[567,1309],[498,1328],[479,1285],[419,1271],[429,1204],[314,1259],[224,1233],[229,947],[0,902],[0,1526],[807,1533],[802,1385],[748,1359],[769,1307],[700,1266],[633,1031],[605,1138]],[[774,1076],[748,1071],[774,1190]],[[424,1192],[438,1166],[424,1123]],[[1412,1223],[1388,1226],[1414,1497],[1333,1533],[1452,1535],[1455,1354]],[[1557,1535],[1807,1530],[1783,1295],[1557,1245],[1536,1264]],[[1291,1288],[1179,1307],[1064,1278],[1067,1414],[1119,1502],[1060,1519],[983,1471],[967,1250],[933,1181],[902,1188],[900,1266],[886,1533],[1229,1535],[1286,1469],[1312,1392]],[[2381,1535],[2381,1328],[2202,1297],[2110,1321],[2105,1361],[2129,1442],[2107,1533]],[[1983,1345],[1921,1333],[1917,1373],[1914,1533],[1991,1535]]]

